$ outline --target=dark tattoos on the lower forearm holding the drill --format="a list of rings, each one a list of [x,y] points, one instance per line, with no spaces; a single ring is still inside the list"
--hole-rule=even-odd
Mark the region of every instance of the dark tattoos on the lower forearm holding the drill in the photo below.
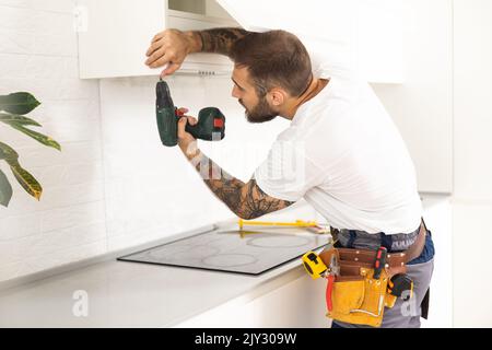
[[[214,195],[242,219],[255,219],[294,203],[268,196],[254,178],[245,184],[229,175],[203,153],[195,167]]]

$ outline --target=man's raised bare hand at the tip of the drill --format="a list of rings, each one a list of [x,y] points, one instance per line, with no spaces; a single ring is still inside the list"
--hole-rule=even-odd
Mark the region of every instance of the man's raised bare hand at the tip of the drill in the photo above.
[[[201,40],[194,32],[180,32],[178,30],[165,30],[157,33],[147,50],[145,65],[150,68],[166,66],[161,77],[173,74],[181,67],[186,56],[199,51]]]

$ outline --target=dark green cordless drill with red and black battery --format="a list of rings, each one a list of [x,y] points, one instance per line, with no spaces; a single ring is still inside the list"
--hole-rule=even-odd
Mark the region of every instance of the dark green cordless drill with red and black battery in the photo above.
[[[164,145],[173,147],[177,144],[177,122],[180,113],[173,103],[169,86],[163,80],[157,82],[155,89],[157,98],[155,112],[157,116],[159,135]],[[194,126],[187,124],[185,130],[196,139],[215,141],[224,138],[225,117],[219,108],[206,107],[198,113],[198,122]]]

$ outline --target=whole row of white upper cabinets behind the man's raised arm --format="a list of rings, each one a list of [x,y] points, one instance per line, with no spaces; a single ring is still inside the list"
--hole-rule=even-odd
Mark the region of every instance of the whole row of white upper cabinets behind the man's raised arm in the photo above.
[[[241,26],[297,34],[314,56],[350,66],[371,82],[400,83],[401,0],[77,0],[80,78],[159,74],[143,65],[152,37],[164,28]],[[224,11],[224,9],[226,11]],[[220,55],[194,54],[180,72],[230,73]]]

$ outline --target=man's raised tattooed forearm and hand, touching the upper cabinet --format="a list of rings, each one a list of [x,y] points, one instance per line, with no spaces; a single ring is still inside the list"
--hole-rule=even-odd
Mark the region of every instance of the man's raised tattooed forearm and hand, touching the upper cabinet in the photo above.
[[[229,56],[235,40],[249,32],[241,28],[213,28],[200,32],[166,30],[157,33],[147,50],[145,65],[150,68],[166,66],[162,77],[179,69],[186,56],[191,52],[214,52]]]

